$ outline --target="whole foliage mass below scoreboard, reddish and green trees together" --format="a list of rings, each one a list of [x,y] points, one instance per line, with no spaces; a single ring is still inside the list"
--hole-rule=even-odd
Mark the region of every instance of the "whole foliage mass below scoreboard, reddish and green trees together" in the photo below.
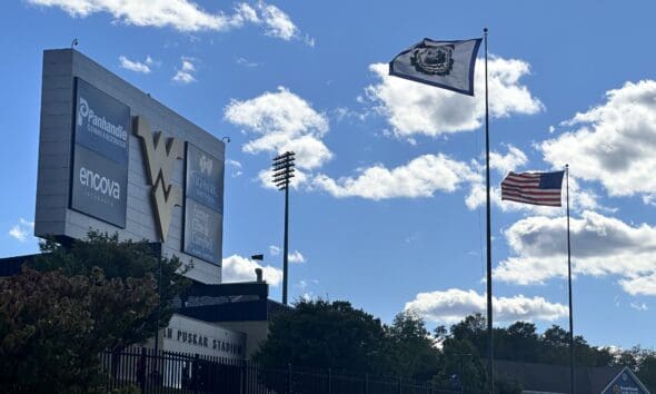
[[[88,242],[42,245],[37,269],[0,279],[0,382],[7,393],[103,391],[99,354],[152,337],[187,285],[177,258],[158,259],[146,242],[90,233]]]

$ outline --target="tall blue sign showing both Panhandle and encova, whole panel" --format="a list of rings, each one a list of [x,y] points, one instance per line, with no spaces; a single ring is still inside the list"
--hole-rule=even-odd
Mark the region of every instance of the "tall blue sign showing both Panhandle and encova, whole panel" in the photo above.
[[[130,107],[76,78],[72,209],[126,227]]]

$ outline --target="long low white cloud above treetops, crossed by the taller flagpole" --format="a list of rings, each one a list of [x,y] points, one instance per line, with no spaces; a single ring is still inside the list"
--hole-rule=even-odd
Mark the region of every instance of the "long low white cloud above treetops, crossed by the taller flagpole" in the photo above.
[[[450,288],[445,292],[419,293],[406,303],[406,311],[414,311],[427,321],[453,324],[475,313],[486,314],[486,296],[475,290]],[[568,315],[568,308],[553,304],[543,297],[493,297],[496,322],[555,321]]]

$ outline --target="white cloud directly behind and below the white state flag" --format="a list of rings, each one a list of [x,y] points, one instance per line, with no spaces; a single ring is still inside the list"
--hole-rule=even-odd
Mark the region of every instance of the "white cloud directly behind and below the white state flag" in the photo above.
[[[388,76],[388,65],[375,63],[369,69],[380,79],[367,87],[367,97],[387,117],[397,137],[439,136],[470,131],[481,126],[485,117],[483,62],[476,67],[476,97]],[[536,114],[541,102],[531,96],[519,79],[529,73],[529,65],[517,59],[493,58],[489,63],[490,116]]]

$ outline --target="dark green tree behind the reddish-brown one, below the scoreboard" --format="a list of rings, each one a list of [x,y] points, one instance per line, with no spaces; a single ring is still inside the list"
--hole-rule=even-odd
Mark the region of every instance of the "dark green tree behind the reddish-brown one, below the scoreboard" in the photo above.
[[[90,232],[87,240],[73,242],[70,247],[64,247],[53,240],[41,244],[42,254],[37,257],[34,268],[41,272],[61,270],[67,276],[90,276],[97,269],[101,269],[108,279],[133,282],[145,279],[150,292],[161,296],[157,307],[137,319],[130,319],[126,325],[126,308],[110,309],[100,303],[92,306],[92,317],[103,322],[106,333],[115,337],[109,349],[120,351],[129,345],[142,343],[155,336],[157,323],[159,328],[168,325],[175,311],[173,298],[181,294],[190,285],[190,280],[181,274],[190,269],[190,265],[183,265],[178,257],[161,258],[161,288],[158,289],[159,260],[152,246],[146,240],[119,240],[118,234],[108,235]],[[99,328],[100,329],[100,328]],[[99,333],[100,334],[100,333]]]

